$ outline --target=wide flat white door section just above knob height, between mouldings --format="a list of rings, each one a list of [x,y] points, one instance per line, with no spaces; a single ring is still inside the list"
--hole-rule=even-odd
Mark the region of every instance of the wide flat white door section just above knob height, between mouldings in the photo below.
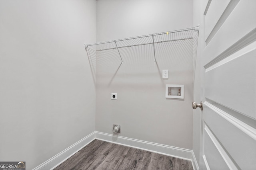
[[[256,119],[254,92],[256,68],[256,42],[252,48],[234,55],[206,69],[204,74],[205,97]],[[248,46],[246,46],[248,47]],[[247,51],[249,50],[249,51]]]

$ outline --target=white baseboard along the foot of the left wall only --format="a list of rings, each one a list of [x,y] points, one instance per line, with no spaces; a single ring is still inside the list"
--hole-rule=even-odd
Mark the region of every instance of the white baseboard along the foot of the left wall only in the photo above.
[[[67,149],[63,150],[59,154],[56,154],[46,162],[42,163],[41,165],[37,166],[33,170],[52,170],[60,165],[62,162],[73,156],[76,152],[81,150],[83,147],[91,143],[95,139],[95,132],[91,133],[90,135],[84,137],[74,145],[68,147]]]

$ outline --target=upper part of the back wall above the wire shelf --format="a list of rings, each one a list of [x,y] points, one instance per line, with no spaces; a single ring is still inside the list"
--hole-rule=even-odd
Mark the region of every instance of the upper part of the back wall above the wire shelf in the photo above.
[[[97,42],[192,27],[193,0],[97,0]]]

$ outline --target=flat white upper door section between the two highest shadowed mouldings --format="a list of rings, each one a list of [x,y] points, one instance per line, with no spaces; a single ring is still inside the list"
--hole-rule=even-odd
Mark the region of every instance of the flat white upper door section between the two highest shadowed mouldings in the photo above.
[[[255,6],[256,1],[254,0],[240,0],[236,8],[234,8],[230,16],[214,35],[214,38],[204,48],[203,65],[210,63],[220,54],[223,55],[224,51],[230,51],[230,46],[241,43],[241,40],[244,40],[243,37],[246,35],[248,35],[248,39],[252,39],[250,34],[255,33],[256,29]],[[240,45],[237,47],[239,48]]]

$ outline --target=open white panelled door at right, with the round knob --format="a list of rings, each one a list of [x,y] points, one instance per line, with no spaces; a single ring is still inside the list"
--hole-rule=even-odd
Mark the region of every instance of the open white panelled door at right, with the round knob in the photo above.
[[[202,15],[200,167],[256,170],[256,0],[206,0]]]

